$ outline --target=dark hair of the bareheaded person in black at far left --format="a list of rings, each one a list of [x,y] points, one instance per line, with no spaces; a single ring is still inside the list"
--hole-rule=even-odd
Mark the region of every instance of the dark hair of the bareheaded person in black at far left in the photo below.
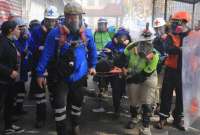
[[[1,25],[1,31],[2,34],[7,36],[10,34],[10,30],[14,30],[17,26],[17,23],[15,21],[5,21],[2,25]]]

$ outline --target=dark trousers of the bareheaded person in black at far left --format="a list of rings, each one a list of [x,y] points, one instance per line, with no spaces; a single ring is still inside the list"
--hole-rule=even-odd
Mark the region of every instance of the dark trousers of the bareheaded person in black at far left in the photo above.
[[[5,122],[5,129],[11,127],[12,123],[12,116],[13,116],[13,105],[14,99],[16,97],[16,91],[14,89],[14,83],[9,84],[0,84],[0,91],[2,92],[4,99],[4,122]]]

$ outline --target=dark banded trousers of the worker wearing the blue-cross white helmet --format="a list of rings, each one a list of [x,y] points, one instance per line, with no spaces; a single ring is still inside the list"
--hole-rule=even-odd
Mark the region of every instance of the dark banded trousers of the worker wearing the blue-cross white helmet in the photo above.
[[[36,99],[36,120],[46,120],[46,91],[38,86],[36,77],[31,79],[31,90]]]

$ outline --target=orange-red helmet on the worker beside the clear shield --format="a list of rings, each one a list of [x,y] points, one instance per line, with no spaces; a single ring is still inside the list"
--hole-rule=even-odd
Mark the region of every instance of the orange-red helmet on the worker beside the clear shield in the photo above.
[[[191,20],[191,16],[186,11],[178,11],[172,15],[172,20],[181,20],[181,21],[189,22]]]

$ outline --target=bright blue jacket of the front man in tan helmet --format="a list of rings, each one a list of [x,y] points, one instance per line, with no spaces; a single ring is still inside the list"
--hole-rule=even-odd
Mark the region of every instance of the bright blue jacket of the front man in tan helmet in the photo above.
[[[89,68],[95,68],[97,63],[97,52],[96,45],[91,30],[85,29],[84,32],[87,38],[87,45],[82,42],[75,48],[75,70],[69,76],[65,77],[66,82],[75,82],[80,80],[82,77],[87,75],[88,66]],[[37,66],[37,75],[43,76],[45,69],[47,68],[48,62],[55,56],[55,49],[58,47],[57,39],[60,36],[59,27],[54,28],[47,36],[45,42],[45,48],[42,52],[42,56]],[[74,35],[67,35],[67,43],[61,48],[61,54],[69,49],[69,41],[76,38]]]

